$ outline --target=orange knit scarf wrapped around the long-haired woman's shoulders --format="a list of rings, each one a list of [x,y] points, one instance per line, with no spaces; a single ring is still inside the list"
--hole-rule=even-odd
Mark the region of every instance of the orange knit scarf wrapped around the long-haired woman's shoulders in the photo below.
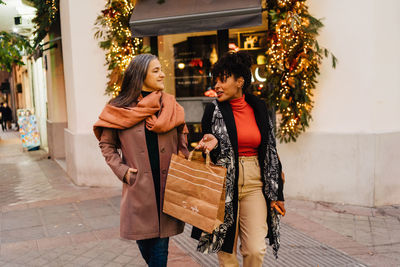
[[[157,117],[155,113],[158,111]],[[103,128],[128,129],[143,120],[150,131],[165,133],[185,124],[185,112],[173,95],[154,91],[141,98],[134,107],[119,108],[107,104],[93,125],[93,131],[100,140]],[[183,132],[187,133],[186,126]]]

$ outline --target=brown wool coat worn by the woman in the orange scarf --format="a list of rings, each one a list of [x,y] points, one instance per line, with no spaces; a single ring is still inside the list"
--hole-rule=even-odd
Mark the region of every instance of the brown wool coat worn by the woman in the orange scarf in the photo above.
[[[177,154],[178,151],[181,151],[186,156],[189,154],[186,134],[178,134],[177,128],[158,134],[161,179],[160,223],[147,152],[144,121],[124,130],[104,128],[99,146],[107,164],[121,181],[123,181],[128,168],[138,170],[137,173],[131,174],[129,184],[123,183],[120,215],[121,237],[141,240],[182,233],[184,223],[163,213],[162,207],[172,153]],[[117,148],[121,148],[122,158]]]

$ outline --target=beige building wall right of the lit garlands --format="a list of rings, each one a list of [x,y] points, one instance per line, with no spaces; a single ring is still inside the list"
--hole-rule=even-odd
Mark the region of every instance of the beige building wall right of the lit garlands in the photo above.
[[[400,2],[310,0],[324,18],[314,120],[281,144],[286,196],[365,206],[400,203]],[[340,14],[340,15],[338,15]]]

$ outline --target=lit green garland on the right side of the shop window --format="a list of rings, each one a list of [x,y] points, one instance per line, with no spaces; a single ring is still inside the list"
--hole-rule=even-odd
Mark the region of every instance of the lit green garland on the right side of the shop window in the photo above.
[[[316,40],[323,27],[308,13],[306,0],[269,0],[267,82],[263,96],[278,112],[280,141],[296,141],[309,127],[312,90],[323,57],[337,59]]]

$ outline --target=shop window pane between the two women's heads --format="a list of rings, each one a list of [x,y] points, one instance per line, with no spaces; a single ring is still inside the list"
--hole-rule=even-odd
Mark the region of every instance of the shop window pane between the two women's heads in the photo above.
[[[158,36],[165,88],[177,98],[204,97],[211,89],[211,67],[218,60],[217,32]]]

